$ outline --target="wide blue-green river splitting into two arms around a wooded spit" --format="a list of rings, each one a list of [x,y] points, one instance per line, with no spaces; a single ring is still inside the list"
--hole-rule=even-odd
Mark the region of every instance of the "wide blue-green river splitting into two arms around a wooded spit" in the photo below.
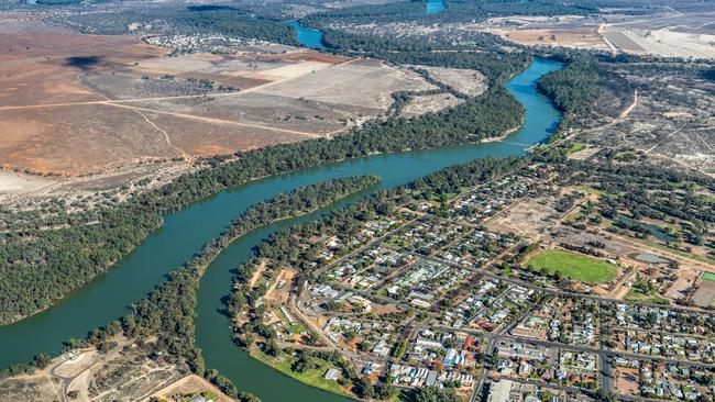
[[[508,81],[507,89],[524,104],[527,114],[522,127],[509,135],[507,142],[349,159],[253,181],[166,214],[164,226],[152,233],[107,273],[51,309],[0,327],[0,367],[29,361],[40,353],[58,354],[63,342],[85,337],[88,331],[128,313],[132,302],[144,298],[165,280],[166,273],[189,260],[205,243],[218,236],[233,219],[261,200],[299,186],[356,175],[381,176],[383,181],[377,189],[386,189],[453,164],[490,155],[507,157],[522,154],[528,146],[547,139],[561,120],[561,114],[553,109],[549,99],[536,90],[539,77],[559,68],[559,63],[536,59],[527,70]],[[365,196],[354,196],[331,208]],[[289,379],[235,347],[231,342],[228,319],[218,313],[221,298],[230,292],[230,270],[244,263],[253,253],[253,247],[277,230],[316,219],[324,212],[327,210],[282,221],[239,238],[211,264],[200,283],[196,342],[204,350],[207,367],[219,369],[239,389],[253,392],[265,402],[285,400],[287,392],[292,399],[299,401],[338,401],[342,398]]]

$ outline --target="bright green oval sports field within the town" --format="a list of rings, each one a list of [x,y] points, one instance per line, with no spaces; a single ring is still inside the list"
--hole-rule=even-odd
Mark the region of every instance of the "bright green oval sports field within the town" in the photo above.
[[[550,249],[529,258],[527,265],[547,272],[561,272],[562,276],[588,283],[603,283],[616,277],[616,267],[600,259],[581,254]]]

